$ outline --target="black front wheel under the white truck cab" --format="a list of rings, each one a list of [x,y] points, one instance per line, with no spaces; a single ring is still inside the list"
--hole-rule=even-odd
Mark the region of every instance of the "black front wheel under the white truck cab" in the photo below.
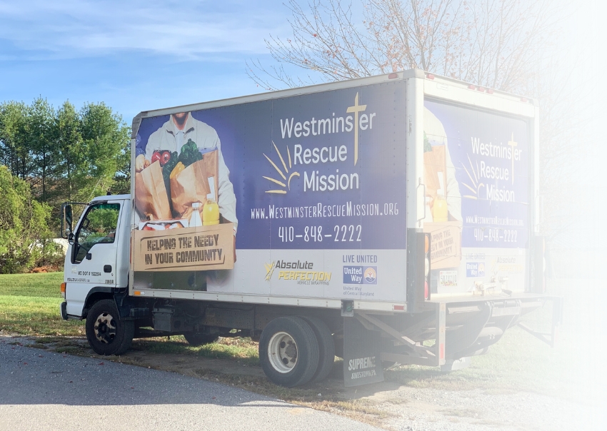
[[[86,315],[86,340],[98,355],[122,355],[135,335],[133,320],[121,320],[111,299],[95,303]]]

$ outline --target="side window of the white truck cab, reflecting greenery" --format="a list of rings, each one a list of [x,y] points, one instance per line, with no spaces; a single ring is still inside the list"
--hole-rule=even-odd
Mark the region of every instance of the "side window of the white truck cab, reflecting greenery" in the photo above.
[[[100,203],[89,208],[75,238],[74,263],[81,263],[95,244],[114,243],[119,203]]]

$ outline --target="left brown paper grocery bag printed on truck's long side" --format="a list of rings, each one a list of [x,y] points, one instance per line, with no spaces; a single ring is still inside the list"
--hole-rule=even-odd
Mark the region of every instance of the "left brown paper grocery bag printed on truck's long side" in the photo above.
[[[150,220],[171,218],[169,196],[158,161],[135,174],[135,207]]]

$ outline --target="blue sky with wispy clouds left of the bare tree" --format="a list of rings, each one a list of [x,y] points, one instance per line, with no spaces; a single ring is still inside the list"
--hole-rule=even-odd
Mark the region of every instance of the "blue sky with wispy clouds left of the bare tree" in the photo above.
[[[291,34],[289,16],[281,0],[0,0],[0,101],[104,101],[130,124],[259,93],[245,61],[270,61],[264,38]]]

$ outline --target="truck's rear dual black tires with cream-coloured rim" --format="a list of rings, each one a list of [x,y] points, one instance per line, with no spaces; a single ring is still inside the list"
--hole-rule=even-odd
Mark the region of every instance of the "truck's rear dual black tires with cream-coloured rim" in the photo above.
[[[314,331],[301,318],[271,320],[259,338],[259,362],[276,385],[305,385],[318,368],[318,341]]]

